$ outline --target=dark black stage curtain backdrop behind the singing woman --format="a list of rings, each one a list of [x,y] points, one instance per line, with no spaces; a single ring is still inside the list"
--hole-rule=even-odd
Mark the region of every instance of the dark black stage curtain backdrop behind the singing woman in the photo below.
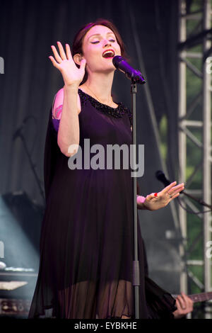
[[[14,134],[29,117],[21,132],[43,188],[43,153],[49,108],[54,94],[63,86],[61,75],[48,58],[52,54],[50,45],[56,45],[57,40],[71,45],[78,28],[100,17],[116,24],[131,64],[140,69],[148,81],[145,86],[139,86],[136,98],[137,142],[145,145],[145,172],[139,179],[141,193],[146,196],[162,188],[155,179],[155,171],[162,169],[162,165],[147,96],[153,103],[156,123],[167,115],[167,169],[170,179],[175,180],[177,0],[1,0],[0,6],[0,57],[4,58],[4,74],[0,74],[2,196],[23,191],[35,205],[43,205],[23,142]],[[130,81],[124,74],[115,74],[113,88],[117,100],[130,107]],[[150,275],[176,293],[179,290],[177,242],[165,238],[166,230],[175,229],[170,207],[153,213],[141,211],[139,219]],[[29,221],[28,227],[37,230],[40,221],[37,224]]]

